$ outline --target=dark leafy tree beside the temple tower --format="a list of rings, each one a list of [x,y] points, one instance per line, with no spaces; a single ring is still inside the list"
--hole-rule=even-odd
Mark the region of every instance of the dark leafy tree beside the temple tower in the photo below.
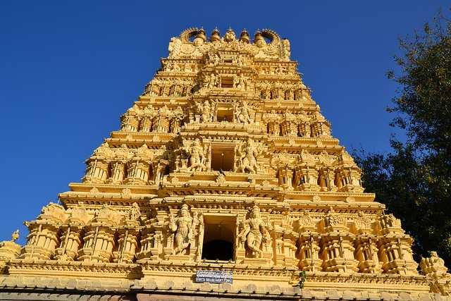
[[[362,180],[415,239],[416,257],[436,250],[451,265],[451,22],[439,13],[424,30],[400,39],[399,85],[391,125],[390,154],[354,152]]]

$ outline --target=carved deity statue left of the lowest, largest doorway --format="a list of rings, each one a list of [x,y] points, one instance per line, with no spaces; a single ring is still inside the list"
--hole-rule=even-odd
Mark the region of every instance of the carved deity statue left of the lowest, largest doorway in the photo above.
[[[194,219],[192,219],[187,204],[183,204],[176,219],[172,214],[169,215],[169,229],[171,232],[175,232],[173,254],[186,253],[194,235],[196,221],[197,216],[194,215]]]

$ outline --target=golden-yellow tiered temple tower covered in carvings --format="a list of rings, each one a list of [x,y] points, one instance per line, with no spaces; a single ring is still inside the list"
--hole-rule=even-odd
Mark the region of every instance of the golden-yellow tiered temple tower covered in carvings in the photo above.
[[[1,300],[451,300],[288,39],[190,28],[168,51],[80,183],[0,243]]]

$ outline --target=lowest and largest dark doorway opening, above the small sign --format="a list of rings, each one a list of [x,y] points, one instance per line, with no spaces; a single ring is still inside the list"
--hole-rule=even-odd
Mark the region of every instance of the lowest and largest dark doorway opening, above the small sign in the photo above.
[[[202,259],[229,261],[235,258],[235,216],[204,216]]]

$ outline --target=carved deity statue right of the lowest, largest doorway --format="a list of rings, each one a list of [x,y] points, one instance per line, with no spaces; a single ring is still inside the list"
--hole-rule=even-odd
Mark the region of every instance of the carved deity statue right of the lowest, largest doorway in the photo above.
[[[260,208],[255,205],[249,214],[249,219],[244,221],[244,228],[239,234],[242,242],[246,242],[246,246],[252,252],[253,256],[261,256],[261,242],[269,240],[268,226],[261,219]]]

